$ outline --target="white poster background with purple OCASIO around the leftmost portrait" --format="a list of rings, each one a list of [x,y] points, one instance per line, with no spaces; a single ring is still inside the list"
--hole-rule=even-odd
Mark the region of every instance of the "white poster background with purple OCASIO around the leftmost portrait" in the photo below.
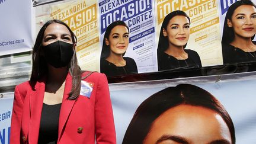
[[[101,47],[108,25],[124,21],[130,29],[124,57],[135,60],[138,73],[157,71],[154,1],[100,0],[98,7]]]

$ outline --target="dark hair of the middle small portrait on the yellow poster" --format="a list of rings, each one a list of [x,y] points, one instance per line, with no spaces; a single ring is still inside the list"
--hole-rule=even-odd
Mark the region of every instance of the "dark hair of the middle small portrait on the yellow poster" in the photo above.
[[[190,23],[190,18],[188,17],[188,15],[184,11],[172,11],[167,16],[165,16],[164,21],[162,23],[161,30],[160,30],[160,34],[159,34],[158,49],[157,49],[158,53],[165,52],[165,50],[168,49],[169,40],[168,40],[168,37],[164,36],[163,29],[167,30],[167,25],[168,25],[169,21],[177,15],[182,15],[184,17],[187,17],[188,21]],[[186,45],[187,44],[185,44],[185,46]],[[185,48],[185,46],[184,46],[184,48]]]

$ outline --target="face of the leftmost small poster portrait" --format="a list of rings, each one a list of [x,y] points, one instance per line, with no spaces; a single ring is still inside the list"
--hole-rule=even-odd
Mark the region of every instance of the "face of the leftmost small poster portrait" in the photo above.
[[[110,56],[123,55],[129,44],[128,29],[124,25],[117,25],[111,30],[108,38],[105,38],[105,43],[110,47]]]

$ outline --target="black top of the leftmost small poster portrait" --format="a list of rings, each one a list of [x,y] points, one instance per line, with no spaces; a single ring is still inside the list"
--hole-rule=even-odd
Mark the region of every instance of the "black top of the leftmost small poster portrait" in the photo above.
[[[108,62],[108,60],[101,59],[100,68],[101,73],[105,73],[107,76],[127,75],[137,73],[137,65],[135,60],[130,57],[123,57],[126,60],[125,66],[116,66],[114,63]]]

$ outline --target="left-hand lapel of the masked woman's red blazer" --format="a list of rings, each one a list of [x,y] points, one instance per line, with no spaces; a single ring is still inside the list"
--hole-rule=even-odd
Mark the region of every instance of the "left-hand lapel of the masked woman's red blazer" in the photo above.
[[[31,119],[28,130],[28,142],[37,143],[41,120],[41,110],[43,107],[43,97],[45,91],[45,79],[37,82],[36,91],[30,94]]]

